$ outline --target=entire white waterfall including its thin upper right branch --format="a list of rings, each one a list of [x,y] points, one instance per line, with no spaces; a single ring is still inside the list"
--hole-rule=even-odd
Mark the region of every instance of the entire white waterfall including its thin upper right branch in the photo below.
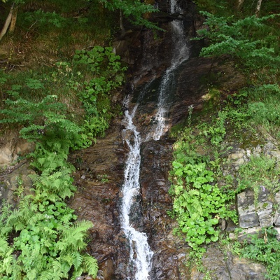
[[[171,2],[171,13],[181,13],[181,8],[176,4],[175,0]],[[123,184],[123,202],[121,207],[121,224],[125,236],[130,241],[130,267],[132,271],[136,270],[133,277],[127,276],[127,279],[148,280],[151,279],[151,260],[153,258],[153,251],[148,245],[148,237],[144,232],[139,232],[133,228],[130,221],[132,211],[132,204],[134,204],[137,195],[140,192],[139,174],[140,174],[140,146],[144,141],[151,139],[159,140],[162,134],[165,133],[165,118],[169,110],[168,94],[174,81],[174,71],[179,65],[188,59],[188,46],[186,37],[183,33],[183,23],[180,20],[171,22],[172,38],[174,42],[174,55],[172,64],[165,72],[160,83],[160,94],[158,99],[158,113],[155,116],[155,126],[152,127],[151,132],[148,133],[146,139],[141,139],[137,127],[133,123],[133,118],[137,111],[137,106],[134,106],[132,113],[125,111],[125,118],[123,124],[125,130],[123,131],[123,139],[130,152],[127,156],[127,163],[125,168],[125,182]],[[146,90],[146,88],[145,88]],[[142,92],[143,93],[143,92]],[[143,94],[141,94],[143,95]],[[125,99],[125,107],[128,108],[130,100]]]

